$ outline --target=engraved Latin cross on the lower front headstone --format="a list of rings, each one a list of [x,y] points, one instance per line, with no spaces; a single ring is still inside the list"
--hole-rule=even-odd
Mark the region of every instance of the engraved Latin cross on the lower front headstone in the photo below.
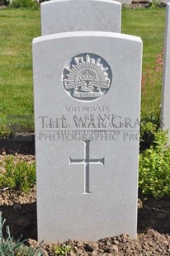
[[[69,164],[84,164],[84,194],[90,194],[90,164],[105,164],[105,157],[102,159],[90,159],[90,140],[84,140],[84,159],[69,159]]]

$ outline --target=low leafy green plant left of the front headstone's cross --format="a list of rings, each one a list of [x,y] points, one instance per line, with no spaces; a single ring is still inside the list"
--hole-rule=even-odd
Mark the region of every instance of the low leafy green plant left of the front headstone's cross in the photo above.
[[[29,192],[35,184],[35,164],[20,160],[15,163],[13,157],[7,157],[4,163],[5,172],[0,173],[0,187]]]

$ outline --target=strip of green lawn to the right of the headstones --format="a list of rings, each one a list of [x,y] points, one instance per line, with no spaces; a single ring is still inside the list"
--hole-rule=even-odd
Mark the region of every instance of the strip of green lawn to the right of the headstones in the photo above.
[[[122,33],[143,40],[142,116],[159,117],[162,90],[165,8],[124,9]]]

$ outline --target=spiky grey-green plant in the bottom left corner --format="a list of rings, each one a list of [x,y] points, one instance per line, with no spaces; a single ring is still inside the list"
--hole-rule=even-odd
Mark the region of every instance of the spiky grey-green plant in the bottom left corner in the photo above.
[[[40,249],[40,246],[35,249],[27,247],[24,243],[25,241],[21,241],[17,239],[15,241],[11,234],[9,226],[7,226],[7,239],[3,238],[2,228],[5,223],[5,220],[2,220],[2,213],[0,214],[0,255],[1,256],[42,256],[44,255]]]

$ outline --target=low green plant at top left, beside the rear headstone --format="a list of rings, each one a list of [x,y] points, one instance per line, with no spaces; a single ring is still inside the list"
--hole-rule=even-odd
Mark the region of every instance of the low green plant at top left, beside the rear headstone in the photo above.
[[[39,3],[32,0],[13,0],[10,4],[10,7],[38,9]]]

